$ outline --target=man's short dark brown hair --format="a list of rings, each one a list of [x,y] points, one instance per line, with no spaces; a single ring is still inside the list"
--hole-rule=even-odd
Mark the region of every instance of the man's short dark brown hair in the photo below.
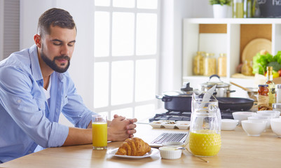
[[[69,12],[60,8],[51,8],[40,16],[37,27],[38,34],[42,37],[44,34],[50,34],[50,26],[67,29],[74,29],[75,27],[76,29],[75,22]]]

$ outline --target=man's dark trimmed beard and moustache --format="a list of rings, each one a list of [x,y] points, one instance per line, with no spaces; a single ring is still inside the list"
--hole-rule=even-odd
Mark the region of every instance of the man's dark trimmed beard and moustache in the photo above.
[[[67,55],[56,56],[54,57],[53,61],[50,60],[43,52],[43,44],[41,49],[41,58],[43,59],[43,62],[50,66],[51,69],[59,73],[64,73],[65,71],[67,71],[70,65],[70,58]],[[57,66],[57,64],[55,64],[56,59],[67,59],[67,66],[65,66],[64,68],[60,68],[59,66]],[[61,65],[64,65],[64,63],[62,63]]]

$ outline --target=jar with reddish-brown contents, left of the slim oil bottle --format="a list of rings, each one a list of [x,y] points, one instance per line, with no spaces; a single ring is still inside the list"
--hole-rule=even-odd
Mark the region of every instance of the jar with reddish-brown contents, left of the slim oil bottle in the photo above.
[[[269,106],[268,85],[259,85],[258,90],[258,111],[266,110]]]

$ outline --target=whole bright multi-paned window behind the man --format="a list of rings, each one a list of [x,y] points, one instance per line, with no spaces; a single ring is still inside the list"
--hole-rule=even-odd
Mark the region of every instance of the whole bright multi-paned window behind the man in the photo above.
[[[158,0],[95,0],[95,112],[154,115],[158,83]]]

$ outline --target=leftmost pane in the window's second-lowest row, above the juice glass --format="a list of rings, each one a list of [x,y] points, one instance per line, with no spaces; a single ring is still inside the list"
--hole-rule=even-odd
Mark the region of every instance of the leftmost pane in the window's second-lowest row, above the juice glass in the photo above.
[[[109,63],[97,62],[94,65],[94,106],[109,105]]]

